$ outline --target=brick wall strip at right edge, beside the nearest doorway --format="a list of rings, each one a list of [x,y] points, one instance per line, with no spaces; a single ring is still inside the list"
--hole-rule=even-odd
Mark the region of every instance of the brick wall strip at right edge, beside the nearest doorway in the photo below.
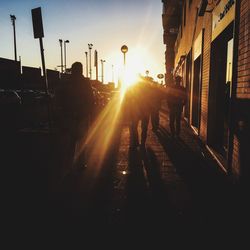
[[[241,0],[239,7],[239,43],[237,87],[234,108],[232,174],[250,178],[250,3]]]

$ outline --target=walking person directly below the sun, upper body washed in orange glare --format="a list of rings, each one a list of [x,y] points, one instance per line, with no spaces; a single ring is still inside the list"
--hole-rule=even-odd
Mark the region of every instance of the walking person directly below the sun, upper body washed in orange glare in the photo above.
[[[145,148],[150,114],[153,109],[153,87],[145,79],[127,90],[126,109],[129,112],[130,145],[132,148],[139,146],[138,125],[141,125],[140,146]]]

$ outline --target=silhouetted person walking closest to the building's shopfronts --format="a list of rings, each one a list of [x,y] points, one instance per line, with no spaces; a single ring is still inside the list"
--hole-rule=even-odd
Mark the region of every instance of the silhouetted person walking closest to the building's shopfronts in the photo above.
[[[186,103],[186,89],[181,86],[182,78],[175,77],[175,84],[168,86],[167,104],[169,108],[169,125],[172,137],[179,136],[181,130],[181,115]]]

